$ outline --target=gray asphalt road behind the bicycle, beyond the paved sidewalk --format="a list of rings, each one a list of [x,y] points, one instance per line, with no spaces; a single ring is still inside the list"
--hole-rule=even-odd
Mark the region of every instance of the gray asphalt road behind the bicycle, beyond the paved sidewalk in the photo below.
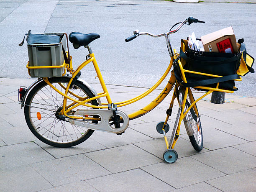
[[[28,78],[26,44],[18,46],[28,30],[32,33],[79,31],[99,33],[90,45],[107,84],[151,87],[169,64],[164,37],[139,36],[125,43],[133,31],[154,34],[168,31],[189,16],[205,24],[184,26],[170,36],[172,47],[179,50],[180,39],[195,32],[197,37],[233,26],[236,38],[244,38],[247,52],[256,58],[256,4],[174,3],[150,0],[1,0],[0,1],[0,77]],[[85,60],[87,49],[75,50],[74,68]],[[254,67],[255,68],[255,67]],[[98,82],[92,66],[82,70],[87,82]],[[236,83],[236,95],[256,97],[256,75],[248,74]],[[161,85],[164,87],[164,84]]]

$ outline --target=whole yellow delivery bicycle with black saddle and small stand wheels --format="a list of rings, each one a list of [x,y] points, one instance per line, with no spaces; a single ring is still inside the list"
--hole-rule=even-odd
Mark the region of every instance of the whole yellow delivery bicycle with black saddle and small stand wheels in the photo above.
[[[133,36],[125,39],[125,41],[128,42],[141,35],[148,35],[155,38],[163,36],[166,40],[171,61],[166,72],[164,72],[163,76],[158,82],[156,82],[156,84],[154,84],[154,86],[143,94],[123,102],[113,102],[111,100],[96,62],[95,55],[89,45],[100,36],[97,33],[83,34],[72,32],[69,35],[69,41],[71,41],[75,49],[78,49],[80,46],[84,46],[88,49],[89,54],[87,55],[87,60],[74,70],[72,67],[72,57],[69,56],[69,53],[67,52],[69,62],[64,61],[63,66],[65,67],[65,72],[67,70],[71,75],[63,74],[61,77],[39,78],[36,82],[31,84],[28,89],[24,87],[20,88],[20,104],[21,108],[24,106],[24,114],[29,129],[39,140],[56,147],[76,146],[89,138],[95,130],[122,134],[125,129],[128,128],[130,120],[136,119],[150,112],[164,100],[174,87],[172,101],[169,109],[166,111],[166,119],[156,125],[156,130],[164,135],[166,143],[167,150],[164,151],[163,158],[167,163],[174,163],[177,160],[178,154],[173,148],[179,137],[182,120],[184,121],[192,146],[196,151],[201,151],[203,147],[202,126],[200,123],[200,115],[195,103],[213,91],[233,93],[233,91],[230,90],[219,89],[219,83],[217,83],[217,86],[213,88],[203,86],[196,87],[207,90],[207,92],[202,97],[194,100],[190,88],[184,87],[180,82],[178,82],[174,72],[172,71],[171,77],[161,93],[144,108],[128,115],[119,109],[120,107],[141,100],[143,97],[146,97],[154,91],[156,87],[158,87],[159,84],[161,84],[161,82],[163,82],[167,77],[174,64],[179,67],[182,80],[185,83],[187,83],[185,73],[221,77],[218,75],[192,72],[183,69],[184,64],[182,63],[182,59],[179,57],[179,54],[175,49],[172,50],[169,36],[172,33],[179,31],[184,24],[190,25],[191,23],[197,22],[204,23],[190,17],[183,22],[178,23],[179,25],[175,30],[170,30],[159,35],[134,31]],[[183,51],[185,51],[185,49]],[[100,93],[97,93],[90,84],[80,78],[81,69],[89,63],[93,64],[97,77],[100,81],[102,87],[102,92]],[[33,67],[28,68],[31,69]],[[38,67],[37,69],[46,68],[54,67],[46,66]],[[240,81],[241,78],[236,80]],[[107,103],[101,102],[100,98],[102,97],[106,98]],[[167,121],[172,114],[172,107],[176,98],[179,103],[179,111],[174,123],[171,139],[170,141],[167,141],[166,133],[169,131]]]

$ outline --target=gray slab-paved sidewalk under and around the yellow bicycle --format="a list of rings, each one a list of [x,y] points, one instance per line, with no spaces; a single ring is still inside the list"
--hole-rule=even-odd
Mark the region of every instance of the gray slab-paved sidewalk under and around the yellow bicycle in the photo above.
[[[198,102],[204,148],[192,148],[184,125],[175,146],[174,164],[163,160],[165,143],[156,124],[165,120],[172,94],[157,108],[131,120],[121,136],[95,131],[78,146],[54,148],[28,129],[17,90],[34,79],[0,78],[0,191],[244,191],[256,189],[256,97],[225,95],[225,104],[210,96]],[[100,92],[99,84],[92,86]],[[146,91],[108,85],[114,101]],[[151,102],[155,90],[141,102],[120,108],[126,113]],[[196,98],[202,92],[194,91]],[[169,119],[177,113],[174,103]],[[170,133],[167,133],[170,136]]]

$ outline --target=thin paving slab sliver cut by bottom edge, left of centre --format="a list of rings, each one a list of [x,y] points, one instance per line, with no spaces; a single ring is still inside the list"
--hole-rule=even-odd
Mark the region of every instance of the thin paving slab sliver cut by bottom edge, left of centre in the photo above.
[[[74,182],[70,184],[64,184],[59,187],[51,187],[49,189],[42,190],[40,192],[98,192],[97,189],[87,184],[85,181]]]

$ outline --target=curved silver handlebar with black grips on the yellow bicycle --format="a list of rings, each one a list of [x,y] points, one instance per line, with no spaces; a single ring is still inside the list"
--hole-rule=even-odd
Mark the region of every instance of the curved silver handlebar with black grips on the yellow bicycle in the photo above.
[[[139,32],[139,31],[133,31],[134,35],[133,36],[130,36],[128,38],[125,39],[125,42],[129,42],[133,39],[135,39],[136,37],[140,36],[140,35],[148,35],[148,36],[151,36],[151,37],[161,37],[161,36],[169,36],[170,34],[172,33],[176,33],[177,31],[179,31],[180,28],[182,28],[182,26],[184,24],[187,24],[187,25],[190,25],[192,23],[205,23],[205,21],[201,21],[201,20],[198,20],[196,18],[193,18],[193,17],[189,17],[187,18],[186,20],[180,22],[180,25],[173,31],[168,31],[166,33],[161,33],[159,35],[154,35],[154,34],[151,34],[151,33],[148,33],[148,32]],[[177,25],[179,23],[176,23],[175,25]],[[174,26],[175,26],[174,25]]]

